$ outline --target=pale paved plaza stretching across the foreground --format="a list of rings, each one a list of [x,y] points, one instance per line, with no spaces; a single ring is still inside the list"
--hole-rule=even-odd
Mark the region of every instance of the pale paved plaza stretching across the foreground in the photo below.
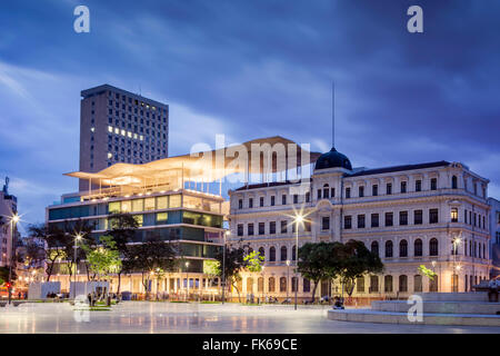
[[[328,307],[124,301],[111,312],[74,312],[68,303],[0,308],[0,333],[494,333],[494,327],[348,323]]]

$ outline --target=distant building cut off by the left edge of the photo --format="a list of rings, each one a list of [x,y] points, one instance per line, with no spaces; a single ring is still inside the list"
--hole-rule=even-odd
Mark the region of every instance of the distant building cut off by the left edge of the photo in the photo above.
[[[3,189],[0,191],[0,266],[7,267],[12,258],[12,244],[17,244],[18,233],[11,218],[18,211],[18,198],[8,191],[9,178],[6,178]]]

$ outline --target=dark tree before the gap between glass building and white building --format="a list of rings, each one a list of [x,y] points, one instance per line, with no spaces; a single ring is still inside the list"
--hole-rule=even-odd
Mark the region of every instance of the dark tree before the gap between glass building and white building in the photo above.
[[[223,260],[223,250],[219,250],[216,254],[216,259],[219,261],[220,266],[224,266],[224,270],[220,271],[220,277],[224,275],[226,284],[229,281],[229,285],[232,286],[238,293],[238,300],[241,303],[240,289],[238,288],[238,281],[241,280],[240,271],[247,267],[246,249],[248,246],[243,246],[241,240],[239,240],[236,246],[226,245],[226,259]],[[226,286],[222,286],[226,288]]]

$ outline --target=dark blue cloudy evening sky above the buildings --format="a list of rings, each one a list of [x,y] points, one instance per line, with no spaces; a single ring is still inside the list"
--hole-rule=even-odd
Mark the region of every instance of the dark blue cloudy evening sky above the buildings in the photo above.
[[[73,9],[90,9],[90,33]],[[409,6],[424,33],[407,31]],[[77,181],[80,90],[170,105],[170,154],[281,135],[353,166],[463,161],[500,196],[500,2],[17,0],[0,11],[0,178],[24,221]]]

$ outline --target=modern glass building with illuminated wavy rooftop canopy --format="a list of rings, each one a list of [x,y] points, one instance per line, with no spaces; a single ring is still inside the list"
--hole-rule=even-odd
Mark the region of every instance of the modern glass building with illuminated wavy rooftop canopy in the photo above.
[[[159,237],[166,244],[174,244],[178,258],[182,259],[178,271],[166,275],[158,284],[154,280],[149,291],[176,294],[189,289],[216,294],[219,280],[203,274],[203,269],[222,247],[224,199],[210,192],[208,184],[200,187],[191,180],[199,180],[201,174],[194,174],[193,168],[180,158],[166,158],[148,165],[119,164],[96,174],[68,174],[87,179],[89,190],[64,195],[60,204],[49,206],[47,224],[77,234],[78,226],[84,222],[98,239],[107,235],[114,214],[130,214],[139,224],[131,244]],[[87,279],[86,265],[81,263],[77,280]],[[118,287],[116,279],[112,278],[111,290]],[[68,290],[70,275],[64,260],[57,264],[53,280],[61,281],[62,290]],[[144,293],[141,274],[122,276],[120,290]]]

